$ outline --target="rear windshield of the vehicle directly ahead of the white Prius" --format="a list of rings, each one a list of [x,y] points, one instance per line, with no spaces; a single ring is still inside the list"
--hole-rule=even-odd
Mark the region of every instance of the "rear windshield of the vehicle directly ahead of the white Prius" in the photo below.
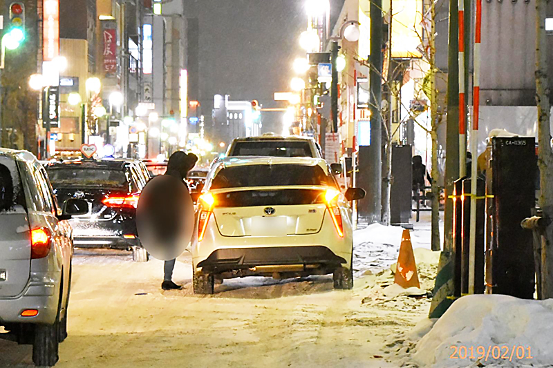
[[[236,142],[231,156],[313,157],[308,141]]]

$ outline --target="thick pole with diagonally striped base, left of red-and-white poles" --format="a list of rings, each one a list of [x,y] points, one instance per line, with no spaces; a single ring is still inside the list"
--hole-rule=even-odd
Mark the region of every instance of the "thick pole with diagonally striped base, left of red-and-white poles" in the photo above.
[[[453,295],[453,182],[459,177],[459,69],[458,69],[458,6],[449,0],[449,49],[447,54],[447,126],[445,161],[444,248],[440,255],[438,274],[430,318],[439,318],[451,305]]]

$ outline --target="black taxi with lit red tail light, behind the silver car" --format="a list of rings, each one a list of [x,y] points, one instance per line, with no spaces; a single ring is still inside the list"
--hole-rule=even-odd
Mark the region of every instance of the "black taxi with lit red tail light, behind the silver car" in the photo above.
[[[138,197],[147,183],[138,161],[129,159],[56,162],[46,166],[57,200],[88,202],[88,213],[71,220],[75,246],[133,251],[133,260],[146,261],[136,231]]]

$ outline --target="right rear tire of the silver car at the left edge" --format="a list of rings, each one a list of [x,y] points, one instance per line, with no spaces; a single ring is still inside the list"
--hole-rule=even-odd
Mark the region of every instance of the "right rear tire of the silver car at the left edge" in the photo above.
[[[35,365],[52,367],[59,360],[59,309],[52,325],[36,325],[35,339],[32,342],[32,362]]]

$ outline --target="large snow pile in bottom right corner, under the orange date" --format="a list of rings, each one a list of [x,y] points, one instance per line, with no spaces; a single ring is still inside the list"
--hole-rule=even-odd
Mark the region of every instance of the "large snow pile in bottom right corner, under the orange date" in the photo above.
[[[421,323],[388,344],[395,361],[435,368],[551,367],[553,363],[553,299],[465,296],[431,329],[433,321]]]

